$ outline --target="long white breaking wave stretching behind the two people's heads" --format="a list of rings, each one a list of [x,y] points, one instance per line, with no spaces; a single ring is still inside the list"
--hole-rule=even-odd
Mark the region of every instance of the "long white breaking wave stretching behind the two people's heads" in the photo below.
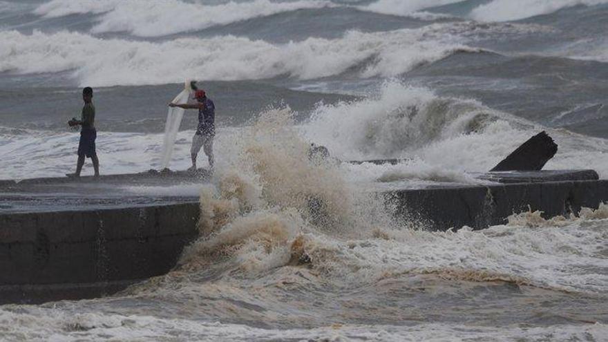
[[[0,72],[56,73],[71,70],[86,86],[263,79],[289,75],[314,79],[365,66],[360,77],[393,76],[457,50],[450,26],[390,32],[347,32],[337,39],[309,38],[289,44],[225,36],[151,43],[99,39],[75,32],[0,32]],[[363,65],[361,65],[363,64]]]

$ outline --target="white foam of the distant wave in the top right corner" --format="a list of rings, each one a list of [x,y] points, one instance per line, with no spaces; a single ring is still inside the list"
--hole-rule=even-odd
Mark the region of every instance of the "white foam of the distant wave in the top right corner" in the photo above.
[[[607,0],[493,0],[473,9],[471,17],[480,21],[511,21],[547,15],[577,5],[593,6]]]

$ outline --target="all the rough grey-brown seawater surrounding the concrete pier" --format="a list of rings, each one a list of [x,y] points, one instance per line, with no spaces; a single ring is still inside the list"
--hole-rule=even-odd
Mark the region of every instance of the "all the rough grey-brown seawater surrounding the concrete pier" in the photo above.
[[[608,178],[606,28],[605,0],[0,1],[0,179],[73,170],[82,86],[102,173],[160,167],[186,78],[218,122],[211,183],[141,189],[201,193],[203,238],[172,272],[2,306],[0,339],[608,341],[608,207],[434,233],[370,195],[477,183],[542,130],[547,169]],[[311,142],[408,161],[308,162]]]

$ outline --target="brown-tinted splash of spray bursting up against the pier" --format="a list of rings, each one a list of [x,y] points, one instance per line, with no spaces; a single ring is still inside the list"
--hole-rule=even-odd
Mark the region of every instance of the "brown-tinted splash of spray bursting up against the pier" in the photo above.
[[[289,108],[270,109],[243,131],[237,160],[202,190],[202,238],[184,251],[176,272],[229,260],[239,272],[257,274],[338,253],[325,236],[365,238],[379,227],[399,229],[383,199],[347,184],[339,164],[307,158],[310,145],[293,116]]]

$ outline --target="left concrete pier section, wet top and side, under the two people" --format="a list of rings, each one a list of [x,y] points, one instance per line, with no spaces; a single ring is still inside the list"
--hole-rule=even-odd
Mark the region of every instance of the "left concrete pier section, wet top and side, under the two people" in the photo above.
[[[93,298],[169,272],[198,237],[199,210],[196,191],[171,187],[205,180],[146,172],[0,181],[0,304]]]

